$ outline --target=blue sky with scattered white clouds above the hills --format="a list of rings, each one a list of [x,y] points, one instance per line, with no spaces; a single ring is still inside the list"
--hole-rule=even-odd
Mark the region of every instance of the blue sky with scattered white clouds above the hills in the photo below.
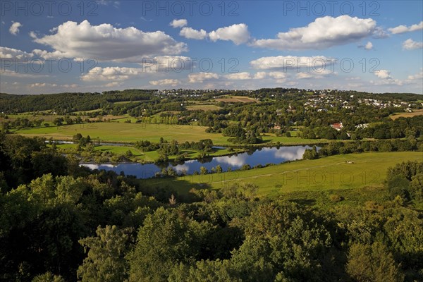
[[[1,1],[0,92],[423,94],[423,1]]]

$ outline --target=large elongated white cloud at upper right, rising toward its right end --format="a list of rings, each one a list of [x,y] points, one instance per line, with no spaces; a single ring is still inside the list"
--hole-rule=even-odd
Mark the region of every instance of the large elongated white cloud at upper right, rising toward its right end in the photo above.
[[[333,18],[317,18],[305,27],[291,28],[288,32],[279,32],[276,39],[258,39],[252,42],[254,47],[271,49],[324,49],[336,45],[356,42],[368,37],[376,30],[376,21],[372,18],[357,18],[347,15]]]

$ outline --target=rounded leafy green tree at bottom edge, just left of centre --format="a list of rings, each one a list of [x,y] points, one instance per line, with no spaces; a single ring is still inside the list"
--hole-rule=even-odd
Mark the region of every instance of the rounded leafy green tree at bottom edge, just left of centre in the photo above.
[[[163,281],[174,262],[195,261],[204,233],[212,228],[163,208],[147,216],[129,255],[130,281]]]

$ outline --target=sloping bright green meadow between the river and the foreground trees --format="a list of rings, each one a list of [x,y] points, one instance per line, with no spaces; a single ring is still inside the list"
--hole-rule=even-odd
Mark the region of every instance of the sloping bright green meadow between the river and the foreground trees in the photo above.
[[[191,188],[219,189],[231,183],[255,183],[259,196],[289,192],[380,187],[386,169],[401,161],[423,161],[423,152],[370,152],[293,161],[248,171],[232,171],[180,178],[147,179],[145,185],[167,185],[184,194]]]

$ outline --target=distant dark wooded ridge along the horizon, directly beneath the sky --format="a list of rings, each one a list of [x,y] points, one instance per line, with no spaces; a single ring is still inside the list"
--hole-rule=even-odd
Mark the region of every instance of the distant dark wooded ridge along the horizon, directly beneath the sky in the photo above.
[[[123,91],[108,91],[103,93],[59,93],[59,94],[36,94],[36,95],[16,95],[16,94],[1,94],[0,93],[0,112],[5,113],[22,113],[27,111],[56,111],[58,114],[66,114],[73,111],[90,111],[95,109],[104,109],[111,106],[115,102],[128,101],[146,101],[157,98],[154,95],[157,90],[123,90]],[[181,94],[190,95],[198,94],[198,90],[173,90],[161,92],[168,95],[179,96]],[[237,92],[236,90],[214,90],[208,94],[204,94],[202,98],[211,99],[214,96],[223,94],[234,94],[248,96],[252,98],[269,99],[281,97],[283,95],[290,95],[293,101],[296,99],[305,99],[304,95],[317,94],[343,94],[349,97],[350,94],[361,98],[383,99],[383,100],[399,100],[403,102],[416,102],[423,99],[423,95],[412,93],[367,93],[356,91],[340,91],[340,90],[300,90],[297,88],[262,88],[259,90],[249,90],[245,92]],[[195,97],[190,97],[194,99]],[[170,109],[168,109],[170,110]]]

